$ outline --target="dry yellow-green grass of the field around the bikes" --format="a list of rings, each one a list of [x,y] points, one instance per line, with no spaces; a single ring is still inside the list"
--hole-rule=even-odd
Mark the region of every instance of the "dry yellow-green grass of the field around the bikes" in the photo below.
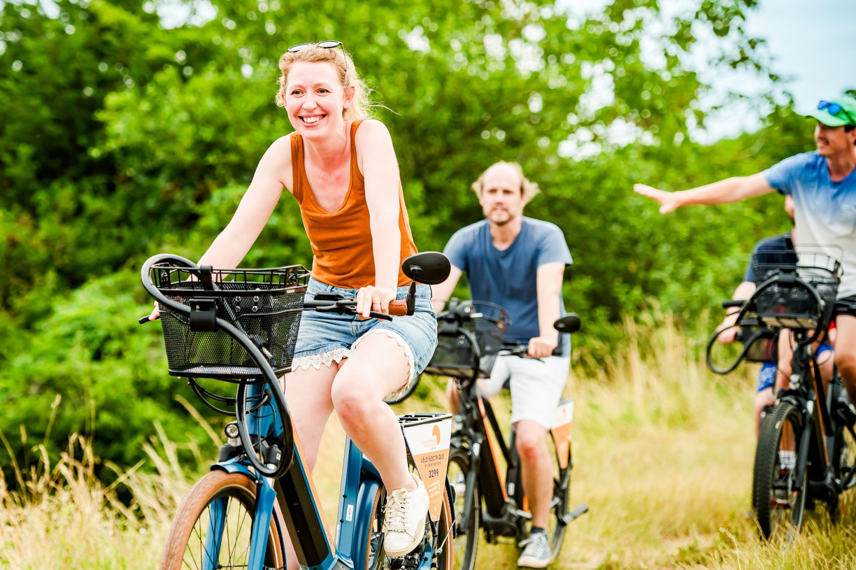
[[[572,504],[585,501],[590,512],[570,526],[553,567],[856,568],[853,496],[844,497],[840,525],[829,525],[818,507],[791,548],[758,541],[746,517],[757,369],[710,374],[698,345],[664,321],[639,330],[628,324],[625,345],[601,361],[586,357],[597,363],[596,375],[568,382],[576,401]],[[402,412],[442,407],[440,382],[426,384],[422,401],[398,406]],[[508,403],[497,408],[507,419]],[[76,437],[62,458],[44,457],[20,474],[26,493],[8,494],[0,481],[0,567],[157,567],[175,505],[214,455],[218,431],[193,446],[198,465],[179,465],[173,435],[155,429],[150,465],[108,465],[122,473],[109,489],[93,477],[98,450]],[[343,439],[334,417],[315,474],[328,519],[336,513]],[[129,506],[116,500],[119,486],[133,495]],[[516,555],[510,542],[483,543],[477,567],[514,568]]]

